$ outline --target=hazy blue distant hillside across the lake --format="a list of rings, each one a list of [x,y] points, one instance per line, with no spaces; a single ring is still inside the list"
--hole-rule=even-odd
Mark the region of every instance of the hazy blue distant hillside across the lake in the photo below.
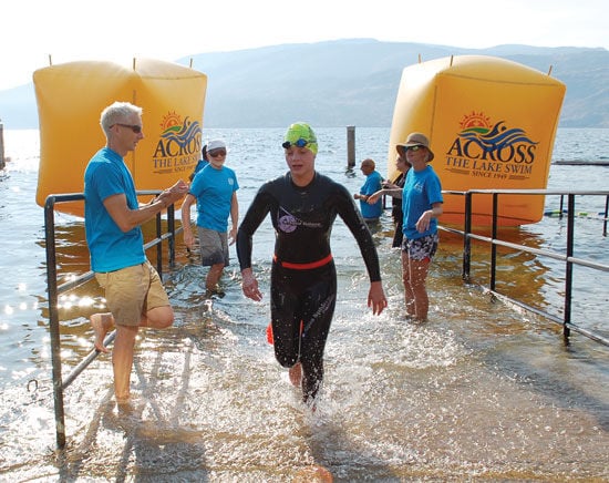
[[[390,126],[402,70],[463,54],[494,55],[567,85],[561,127],[609,127],[609,51],[499,45],[460,49],[351,39],[200,53],[176,62],[208,75],[206,127],[280,127],[296,119],[318,126]],[[33,85],[0,91],[8,129],[38,127]]]

